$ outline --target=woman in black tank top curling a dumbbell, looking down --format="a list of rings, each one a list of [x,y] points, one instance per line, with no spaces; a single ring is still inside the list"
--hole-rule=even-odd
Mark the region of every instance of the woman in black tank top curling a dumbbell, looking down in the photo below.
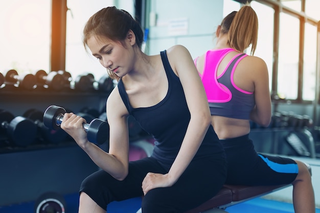
[[[83,33],[85,48],[118,86],[106,103],[108,153],[89,143],[83,118],[62,119],[61,128],[102,169],[82,182],[79,212],[105,212],[112,201],[143,195],[144,213],[184,212],[212,198],[225,181],[225,154],[189,51],[176,45],[145,55],[141,26],[116,7],[90,17]],[[129,115],[157,141],[151,157],[128,162]]]

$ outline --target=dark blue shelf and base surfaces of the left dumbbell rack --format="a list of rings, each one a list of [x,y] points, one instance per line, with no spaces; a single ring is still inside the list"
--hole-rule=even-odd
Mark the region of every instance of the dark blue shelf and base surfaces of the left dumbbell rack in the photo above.
[[[29,109],[44,112],[50,105],[79,112],[83,107],[105,108],[108,96],[100,91],[0,88],[0,109],[15,116]],[[55,145],[0,147],[0,162],[0,206],[34,201],[48,191],[77,193],[82,180],[99,169],[72,139]]]

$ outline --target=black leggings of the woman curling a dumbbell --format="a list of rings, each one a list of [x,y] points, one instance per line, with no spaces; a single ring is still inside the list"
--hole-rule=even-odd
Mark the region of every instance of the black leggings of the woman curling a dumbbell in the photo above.
[[[148,172],[166,174],[154,158],[129,162],[129,173],[119,181],[100,170],[88,176],[81,185],[103,209],[112,201],[143,196],[142,181]],[[143,212],[184,212],[211,199],[221,189],[226,177],[225,159],[205,157],[193,160],[172,187],[150,190],[143,198]]]

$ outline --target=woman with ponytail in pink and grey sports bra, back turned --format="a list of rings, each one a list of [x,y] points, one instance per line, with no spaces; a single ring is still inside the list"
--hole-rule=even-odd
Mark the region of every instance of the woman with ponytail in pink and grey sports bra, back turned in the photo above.
[[[315,212],[311,175],[290,158],[260,154],[249,138],[252,120],[268,126],[271,99],[265,62],[253,56],[258,17],[249,6],[227,15],[216,31],[217,43],[195,60],[207,93],[214,127],[226,152],[226,184],[293,185],[295,212]],[[250,56],[244,50],[252,45]]]

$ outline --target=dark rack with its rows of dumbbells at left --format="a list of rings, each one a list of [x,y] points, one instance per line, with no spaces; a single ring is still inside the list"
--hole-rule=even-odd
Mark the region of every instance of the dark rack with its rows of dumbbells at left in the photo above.
[[[88,124],[99,117],[107,121],[106,99],[114,87],[108,75],[97,80],[91,73],[72,76],[61,70],[0,71],[0,206],[78,192],[82,180],[99,168],[66,132],[44,125],[44,112],[58,105]],[[139,138],[139,126],[130,126],[132,137]],[[108,149],[107,143],[101,146]]]

